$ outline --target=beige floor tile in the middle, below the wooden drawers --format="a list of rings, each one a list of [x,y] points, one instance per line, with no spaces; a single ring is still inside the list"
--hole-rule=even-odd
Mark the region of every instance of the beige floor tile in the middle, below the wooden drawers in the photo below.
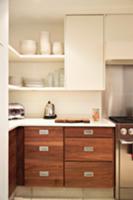
[[[82,189],[70,189],[70,188],[43,188],[33,187],[32,198],[76,198],[81,199],[83,197]]]

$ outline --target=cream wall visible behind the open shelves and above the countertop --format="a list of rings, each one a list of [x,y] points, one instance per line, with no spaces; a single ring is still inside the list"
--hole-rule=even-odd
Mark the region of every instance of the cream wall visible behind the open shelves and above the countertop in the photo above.
[[[42,30],[51,33],[51,40],[64,41],[64,24],[19,24],[10,27],[10,43],[19,49],[22,39],[39,42]],[[10,63],[10,75],[46,78],[49,71],[63,67],[64,63]],[[81,77],[82,78],[82,77]],[[101,92],[10,92],[10,102],[22,103],[26,117],[42,117],[48,100],[53,101],[60,115],[89,116],[92,108],[101,109]]]

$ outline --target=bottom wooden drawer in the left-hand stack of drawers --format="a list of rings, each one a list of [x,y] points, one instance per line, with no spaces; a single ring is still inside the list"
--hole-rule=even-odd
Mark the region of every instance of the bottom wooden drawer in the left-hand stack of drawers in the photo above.
[[[25,185],[63,186],[63,163],[26,159]]]

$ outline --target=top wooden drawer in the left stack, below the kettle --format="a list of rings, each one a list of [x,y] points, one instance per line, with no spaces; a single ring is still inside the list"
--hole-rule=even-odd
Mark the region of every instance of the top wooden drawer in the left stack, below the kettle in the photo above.
[[[46,138],[62,138],[63,128],[60,127],[26,127],[25,140],[45,140]]]

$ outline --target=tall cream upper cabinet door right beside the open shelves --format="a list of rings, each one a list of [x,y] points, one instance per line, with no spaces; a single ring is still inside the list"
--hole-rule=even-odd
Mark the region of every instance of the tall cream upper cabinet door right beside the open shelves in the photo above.
[[[67,89],[103,90],[103,16],[67,16],[65,84]]]

